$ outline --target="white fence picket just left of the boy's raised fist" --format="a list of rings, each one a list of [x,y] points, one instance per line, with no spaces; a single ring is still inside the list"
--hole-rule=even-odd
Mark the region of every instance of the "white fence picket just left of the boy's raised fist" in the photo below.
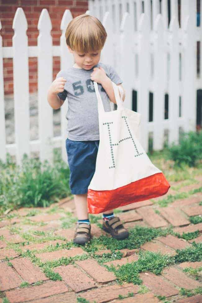
[[[52,30],[48,10],[44,8],[38,22],[38,109],[40,159],[53,162],[53,108],[47,101],[48,88],[53,82]]]

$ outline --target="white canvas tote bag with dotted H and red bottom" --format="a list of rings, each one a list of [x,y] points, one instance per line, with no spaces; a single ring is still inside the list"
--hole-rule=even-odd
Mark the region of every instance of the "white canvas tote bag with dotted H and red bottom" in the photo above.
[[[88,187],[89,213],[102,213],[126,204],[159,197],[170,185],[137,139],[140,113],[125,108],[112,82],[117,110],[105,112],[97,82],[99,149]]]

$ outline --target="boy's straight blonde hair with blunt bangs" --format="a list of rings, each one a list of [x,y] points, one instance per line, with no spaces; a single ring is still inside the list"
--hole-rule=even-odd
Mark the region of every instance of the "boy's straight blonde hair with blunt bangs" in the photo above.
[[[65,38],[72,50],[90,53],[103,48],[107,33],[96,17],[82,14],[69,22]]]

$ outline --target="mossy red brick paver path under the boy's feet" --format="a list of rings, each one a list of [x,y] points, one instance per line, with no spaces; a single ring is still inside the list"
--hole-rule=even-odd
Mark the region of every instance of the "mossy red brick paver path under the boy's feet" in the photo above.
[[[169,194],[189,192],[202,186],[202,178],[196,176],[198,183],[182,186],[183,182],[171,182],[167,195],[153,200],[142,201],[121,207],[117,213],[128,229],[135,226],[146,226],[165,229],[172,226],[174,232],[199,230],[197,238],[186,241],[174,235],[158,236],[147,241],[140,248],[124,248],[122,259],[105,262],[119,267],[123,264],[136,262],[139,250],[161,252],[161,254],[176,255],[177,249],[191,247],[193,241],[202,241],[202,223],[192,224],[192,216],[201,216],[201,192],[178,199],[161,207],[159,201]],[[56,208],[57,206],[57,208]],[[55,209],[54,209],[55,208]],[[36,210],[35,215],[30,210]],[[201,272],[196,280],[193,275],[183,272],[186,267],[196,269],[202,262],[183,262],[165,267],[160,275],[151,272],[140,273],[143,284],[137,285],[124,282],[120,285],[114,273],[100,265],[83,246],[73,246],[72,239],[76,227],[76,212],[74,202],[70,198],[62,199],[48,208],[21,208],[5,215],[0,221],[0,303],[76,303],[81,302],[114,302],[114,303],[157,303],[164,302],[158,296],[165,296],[168,302],[199,303],[202,295],[187,297],[180,294],[181,287],[194,290],[202,284]],[[99,214],[101,215],[101,214]],[[68,219],[69,218],[69,219]],[[71,221],[72,220],[72,221]],[[71,222],[70,222],[71,221]],[[102,219],[98,220],[102,223]],[[45,236],[50,238],[44,239]],[[99,238],[106,234],[97,223],[91,223],[92,237]],[[52,238],[51,238],[52,236]],[[58,244],[57,244],[58,243]],[[62,244],[71,243],[70,247]],[[59,249],[48,249],[48,246],[60,245]],[[117,250],[116,250],[117,251]],[[26,253],[26,254],[25,254]],[[30,255],[29,255],[30,253]],[[111,253],[107,247],[100,247],[95,255]],[[23,255],[24,254],[24,255]],[[60,264],[60,260],[72,260],[72,264]],[[83,258],[83,256],[85,256]],[[35,262],[37,260],[37,262]],[[53,264],[52,273],[48,274],[40,264]],[[48,263],[49,262],[49,263]],[[51,263],[52,262],[52,263]],[[53,276],[51,276],[53,275]],[[59,275],[61,278],[51,278]],[[27,285],[25,285],[27,282]],[[24,284],[22,284],[24,283]],[[142,287],[147,287],[146,293],[141,293]],[[130,296],[129,293],[133,293]],[[7,298],[6,301],[5,297]]]

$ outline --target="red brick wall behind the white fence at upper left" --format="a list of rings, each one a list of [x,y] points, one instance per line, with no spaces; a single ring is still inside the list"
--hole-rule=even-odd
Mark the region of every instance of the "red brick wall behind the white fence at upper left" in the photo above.
[[[71,11],[72,17],[76,17],[88,10],[87,0],[0,0],[0,20],[3,46],[12,46],[13,18],[18,7],[22,7],[28,23],[28,45],[37,45],[37,24],[43,8],[48,10],[52,22],[51,35],[53,45],[60,44],[60,23],[66,9]],[[60,58],[53,57],[53,79],[60,70]],[[13,62],[12,59],[3,59],[4,94],[13,94]],[[37,58],[29,58],[29,83],[30,93],[37,91]]]

